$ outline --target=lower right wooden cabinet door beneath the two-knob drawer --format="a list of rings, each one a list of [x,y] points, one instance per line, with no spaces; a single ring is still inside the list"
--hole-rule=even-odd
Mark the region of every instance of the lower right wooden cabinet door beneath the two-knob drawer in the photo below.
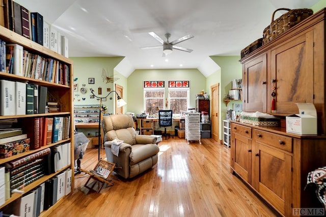
[[[290,154],[254,141],[253,187],[285,216],[291,212]]]

